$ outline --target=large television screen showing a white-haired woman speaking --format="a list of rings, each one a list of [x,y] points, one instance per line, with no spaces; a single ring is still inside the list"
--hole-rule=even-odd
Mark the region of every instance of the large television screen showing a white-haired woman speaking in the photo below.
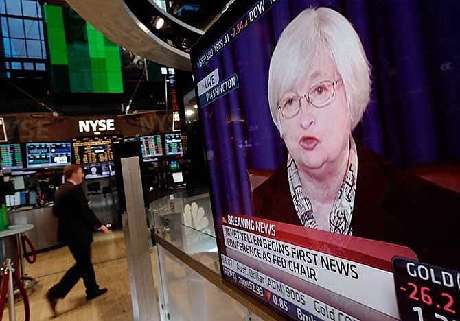
[[[289,320],[459,321],[458,185],[408,165],[460,160],[460,7],[326,2],[235,0],[190,51],[222,277]]]

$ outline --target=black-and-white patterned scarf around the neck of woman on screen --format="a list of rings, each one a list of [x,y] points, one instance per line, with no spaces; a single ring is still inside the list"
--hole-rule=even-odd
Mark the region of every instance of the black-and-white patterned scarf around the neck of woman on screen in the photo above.
[[[299,215],[300,222],[308,228],[319,229],[319,226],[314,219],[312,202],[303,192],[300,182],[299,172],[294,160],[288,155],[288,181],[290,195],[294,203],[295,211]],[[356,191],[356,178],[358,174],[358,154],[356,153],[356,144],[350,136],[350,152],[347,163],[347,172],[343,179],[341,188],[338,190],[338,195],[329,217],[329,228],[331,232],[352,235],[352,215],[354,195]]]

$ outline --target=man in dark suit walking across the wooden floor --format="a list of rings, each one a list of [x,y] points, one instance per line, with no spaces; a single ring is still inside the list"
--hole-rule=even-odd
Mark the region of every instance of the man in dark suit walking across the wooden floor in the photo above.
[[[64,168],[65,183],[54,195],[53,214],[58,217],[58,241],[69,246],[76,263],[62,277],[58,284],[47,292],[51,309],[56,314],[58,299],[64,298],[80,278],[87,288],[87,300],[107,292],[100,289],[91,263],[91,243],[93,231],[108,233],[108,229],[94,215],[84,196],[82,182],[84,173],[80,165],[68,165]]]

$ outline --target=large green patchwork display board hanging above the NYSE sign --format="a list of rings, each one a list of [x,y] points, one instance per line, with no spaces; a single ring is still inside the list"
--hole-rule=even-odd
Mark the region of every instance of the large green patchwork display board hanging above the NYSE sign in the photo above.
[[[71,8],[43,9],[54,93],[123,93],[119,46]]]

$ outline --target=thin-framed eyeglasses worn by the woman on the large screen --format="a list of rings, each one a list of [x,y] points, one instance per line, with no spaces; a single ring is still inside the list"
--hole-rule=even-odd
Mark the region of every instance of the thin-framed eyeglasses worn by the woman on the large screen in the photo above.
[[[336,84],[339,82],[341,82],[341,79],[334,81],[325,80],[312,86],[306,95],[295,95],[283,99],[283,101],[278,105],[279,110],[281,110],[281,115],[283,115],[285,119],[295,117],[299,113],[303,98],[306,98],[308,104],[316,108],[323,108],[327,106],[327,104],[334,99],[336,94]]]

